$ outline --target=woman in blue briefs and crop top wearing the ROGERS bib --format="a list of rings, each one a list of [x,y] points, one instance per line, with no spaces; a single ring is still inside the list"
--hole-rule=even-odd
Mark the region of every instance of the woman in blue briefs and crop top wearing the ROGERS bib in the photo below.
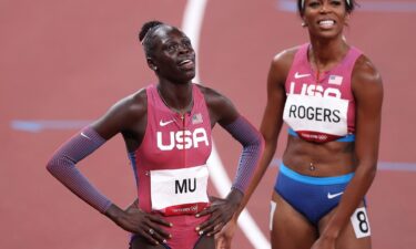
[[[272,61],[261,133],[265,151],[243,204],[217,234],[230,248],[236,219],[288,138],[271,203],[272,248],[371,248],[365,195],[376,174],[383,86],[374,64],[344,35],[354,0],[298,0],[310,42]]]

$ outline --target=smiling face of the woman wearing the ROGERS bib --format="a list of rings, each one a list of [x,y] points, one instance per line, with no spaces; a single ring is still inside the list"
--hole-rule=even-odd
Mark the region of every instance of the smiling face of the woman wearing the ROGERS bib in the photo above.
[[[303,20],[312,37],[342,35],[349,14],[345,0],[305,0]]]

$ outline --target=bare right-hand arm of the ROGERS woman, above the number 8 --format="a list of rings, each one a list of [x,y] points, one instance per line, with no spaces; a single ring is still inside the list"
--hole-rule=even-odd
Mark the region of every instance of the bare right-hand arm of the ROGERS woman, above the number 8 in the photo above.
[[[322,237],[335,239],[358,207],[376,175],[382,123],[383,85],[374,65],[359,58],[352,79],[356,101],[355,175],[346,187],[341,203],[324,229]]]

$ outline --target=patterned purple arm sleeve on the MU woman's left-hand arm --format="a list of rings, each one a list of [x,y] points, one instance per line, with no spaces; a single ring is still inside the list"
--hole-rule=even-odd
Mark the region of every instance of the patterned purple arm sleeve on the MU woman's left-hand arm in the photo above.
[[[61,145],[47,165],[59,181],[103,214],[112,203],[82,175],[75,164],[104,143],[105,139],[88,126]]]

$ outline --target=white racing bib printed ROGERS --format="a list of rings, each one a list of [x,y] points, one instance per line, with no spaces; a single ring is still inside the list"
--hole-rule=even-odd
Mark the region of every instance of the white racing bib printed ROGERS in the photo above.
[[[347,100],[287,94],[283,120],[301,137],[325,141],[347,135]]]

